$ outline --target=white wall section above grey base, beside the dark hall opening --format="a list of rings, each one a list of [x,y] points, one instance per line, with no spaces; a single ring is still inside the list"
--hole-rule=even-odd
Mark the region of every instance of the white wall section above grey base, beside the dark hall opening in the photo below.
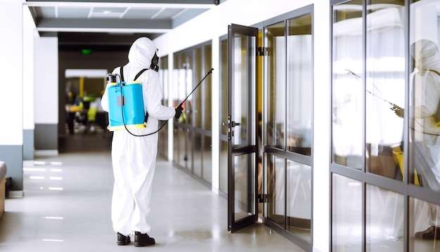
[[[35,124],[58,124],[58,38],[34,37]]]

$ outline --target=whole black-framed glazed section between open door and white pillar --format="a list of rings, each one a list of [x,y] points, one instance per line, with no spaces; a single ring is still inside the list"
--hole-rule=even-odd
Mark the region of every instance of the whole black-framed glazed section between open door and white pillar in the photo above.
[[[311,244],[312,13],[306,6],[273,20],[263,34],[263,216],[304,244]]]

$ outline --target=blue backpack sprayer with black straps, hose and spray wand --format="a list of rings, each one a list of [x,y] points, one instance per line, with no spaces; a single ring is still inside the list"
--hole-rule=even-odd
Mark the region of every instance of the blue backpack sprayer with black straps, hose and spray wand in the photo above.
[[[157,131],[152,133],[148,133],[145,135],[135,135],[131,133],[129,129],[132,128],[145,128],[148,119],[148,112],[143,109],[143,94],[142,94],[142,84],[141,81],[136,81],[136,79],[141,76],[145,70],[143,69],[141,72],[138,72],[135,77],[135,81],[125,82],[123,68],[121,67],[121,76],[119,74],[108,74],[108,130],[109,131],[119,131],[125,129],[131,135],[134,136],[146,136],[153,135],[160,131],[167,121],[165,121],[162,126]],[[185,100],[183,100],[178,107],[183,105],[189,96],[195,91],[202,81],[208,76],[208,74],[212,74],[213,68],[207,72],[205,77],[199,82],[197,86],[191,91],[191,93],[186,96]],[[119,82],[117,82],[117,77],[119,77]]]

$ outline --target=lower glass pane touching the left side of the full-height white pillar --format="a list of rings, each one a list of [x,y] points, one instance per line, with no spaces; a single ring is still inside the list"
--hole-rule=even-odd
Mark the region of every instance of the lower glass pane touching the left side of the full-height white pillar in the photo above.
[[[287,160],[287,230],[311,241],[311,167]]]

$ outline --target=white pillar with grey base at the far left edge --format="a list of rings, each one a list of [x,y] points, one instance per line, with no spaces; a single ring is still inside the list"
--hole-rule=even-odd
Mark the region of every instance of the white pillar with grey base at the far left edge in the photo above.
[[[4,24],[2,32],[6,36],[0,39],[3,77],[0,91],[0,160],[6,162],[6,177],[13,179],[13,190],[20,191],[23,184],[22,1],[3,0],[1,10],[0,23]]]

